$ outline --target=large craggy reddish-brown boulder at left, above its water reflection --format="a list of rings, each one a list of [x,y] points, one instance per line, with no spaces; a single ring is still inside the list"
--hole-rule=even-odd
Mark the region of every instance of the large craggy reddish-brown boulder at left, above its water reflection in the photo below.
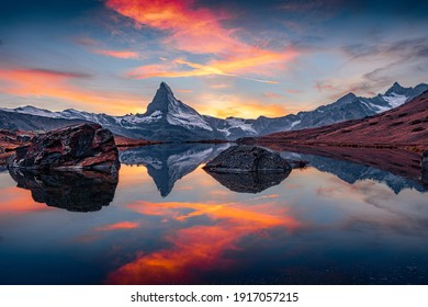
[[[34,136],[29,146],[16,149],[8,167],[116,172],[120,162],[113,134],[98,124],[81,124]]]

